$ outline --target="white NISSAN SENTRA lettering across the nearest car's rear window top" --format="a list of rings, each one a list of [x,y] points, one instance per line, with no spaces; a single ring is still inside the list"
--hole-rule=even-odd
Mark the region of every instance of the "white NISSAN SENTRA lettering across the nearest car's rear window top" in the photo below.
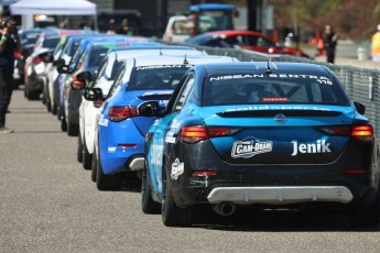
[[[247,74],[247,75],[224,75],[210,77],[209,81],[218,80],[230,80],[230,79],[260,79],[260,78],[296,78],[296,79],[313,79],[319,84],[333,85],[333,81],[325,76],[315,76],[315,75],[302,75],[302,74]]]

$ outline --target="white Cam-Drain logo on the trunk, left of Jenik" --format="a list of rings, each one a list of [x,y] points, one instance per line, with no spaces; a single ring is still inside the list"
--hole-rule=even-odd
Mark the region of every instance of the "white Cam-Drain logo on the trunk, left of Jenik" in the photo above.
[[[271,152],[273,142],[271,141],[261,142],[257,138],[246,138],[234,143],[231,156],[232,158],[249,158],[257,154]]]

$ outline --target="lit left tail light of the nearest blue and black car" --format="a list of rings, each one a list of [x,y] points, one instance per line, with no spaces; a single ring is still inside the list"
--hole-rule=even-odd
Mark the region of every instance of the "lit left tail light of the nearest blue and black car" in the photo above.
[[[184,143],[194,144],[209,138],[228,136],[239,129],[227,127],[184,125],[180,131],[180,139]]]

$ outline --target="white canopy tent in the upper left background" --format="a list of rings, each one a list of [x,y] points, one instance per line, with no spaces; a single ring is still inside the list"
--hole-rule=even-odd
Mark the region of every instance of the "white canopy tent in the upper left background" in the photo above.
[[[20,0],[10,6],[13,15],[94,15],[97,30],[97,7],[87,0]]]

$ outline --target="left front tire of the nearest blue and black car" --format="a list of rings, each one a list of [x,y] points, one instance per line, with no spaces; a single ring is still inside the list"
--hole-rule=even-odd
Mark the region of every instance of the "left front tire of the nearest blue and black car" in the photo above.
[[[159,215],[161,205],[152,199],[151,177],[146,168],[143,169],[141,180],[141,209],[146,215]]]

